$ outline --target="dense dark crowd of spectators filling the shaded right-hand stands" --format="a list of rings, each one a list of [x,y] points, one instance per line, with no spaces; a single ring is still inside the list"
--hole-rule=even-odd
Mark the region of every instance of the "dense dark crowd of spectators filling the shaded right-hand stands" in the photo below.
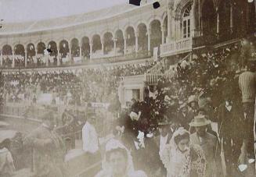
[[[190,133],[197,131],[199,139],[211,141],[209,137],[200,136],[198,131],[202,129],[193,129],[191,126],[196,118],[204,116],[204,119],[215,123],[216,126],[209,124],[204,129],[211,136],[222,140],[219,143],[223,142],[227,176],[243,176],[244,173],[238,170],[240,165],[250,166],[251,163],[248,163],[245,157],[255,157],[254,113],[249,110],[249,104],[244,103],[242,98],[244,95],[251,95],[251,107],[254,109],[256,84],[255,68],[250,69],[255,67],[255,59],[250,61],[251,58],[245,58],[248,62],[244,65],[243,59],[240,44],[233,44],[207,52],[200,51],[197,55],[178,62],[172,77],[162,77],[158,80],[157,87],[147,87],[144,100],[133,99],[131,107],[122,112],[118,125],[124,126],[123,140],[126,147],[133,147],[133,142],[141,142],[142,137],[146,139],[144,142],[149,141],[152,133],[157,133],[157,129],[161,130],[159,122],[163,122],[166,117],[171,126],[183,127]],[[172,130],[175,131],[171,127],[169,133]],[[201,146],[205,154],[211,153],[210,149]],[[139,153],[146,153],[146,149],[145,143],[144,150]],[[148,154],[142,155],[142,161],[147,161],[150,154],[153,154],[152,149]],[[139,167],[145,172],[149,171],[148,174],[156,172],[153,166],[148,165],[150,162],[145,168],[141,165]],[[249,169],[246,171],[254,174]]]

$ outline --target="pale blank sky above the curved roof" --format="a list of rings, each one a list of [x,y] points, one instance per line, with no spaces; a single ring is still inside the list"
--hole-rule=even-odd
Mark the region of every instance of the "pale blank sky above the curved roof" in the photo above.
[[[4,23],[70,16],[103,9],[129,0],[0,0]]]

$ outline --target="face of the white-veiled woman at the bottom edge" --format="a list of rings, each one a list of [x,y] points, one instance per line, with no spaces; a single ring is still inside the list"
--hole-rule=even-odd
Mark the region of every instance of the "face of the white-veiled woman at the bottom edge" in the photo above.
[[[124,154],[119,151],[110,154],[110,166],[114,175],[121,176],[124,175],[126,169],[126,159]]]

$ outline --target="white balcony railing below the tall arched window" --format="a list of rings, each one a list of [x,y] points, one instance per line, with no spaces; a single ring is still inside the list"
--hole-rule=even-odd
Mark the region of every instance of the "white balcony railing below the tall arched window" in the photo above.
[[[171,43],[160,45],[160,56],[175,55],[181,52],[192,50],[192,38],[185,38],[178,41],[172,41]]]

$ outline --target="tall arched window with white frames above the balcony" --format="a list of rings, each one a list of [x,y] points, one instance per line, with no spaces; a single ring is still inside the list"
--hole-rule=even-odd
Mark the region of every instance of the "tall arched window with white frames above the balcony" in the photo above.
[[[187,38],[191,37],[191,9],[192,9],[192,2],[186,5],[186,8],[183,10],[182,13],[182,37]]]

